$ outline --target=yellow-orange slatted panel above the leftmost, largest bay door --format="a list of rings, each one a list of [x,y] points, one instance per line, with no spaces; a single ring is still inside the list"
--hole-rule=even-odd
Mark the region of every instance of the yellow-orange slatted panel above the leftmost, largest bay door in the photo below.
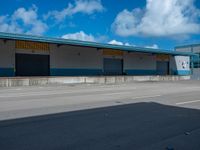
[[[16,49],[36,50],[36,51],[49,51],[48,43],[32,42],[32,41],[16,41]]]

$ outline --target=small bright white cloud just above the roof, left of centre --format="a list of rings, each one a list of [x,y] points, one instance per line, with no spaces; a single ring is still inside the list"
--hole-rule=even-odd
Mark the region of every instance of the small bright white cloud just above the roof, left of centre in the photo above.
[[[95,38],[91,34],[86,34],[83,31],[76,32],[76,33],[70,33],[70,34],[65,34],[62,36],[64,39],[72,39],[72,40],[81,40],[81,41],[90,41],[90,42],[95,42]]]

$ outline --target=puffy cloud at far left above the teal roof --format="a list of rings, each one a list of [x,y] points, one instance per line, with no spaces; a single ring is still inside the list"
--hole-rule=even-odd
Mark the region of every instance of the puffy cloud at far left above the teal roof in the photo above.
[[[43,34],[48,26],[38,19],[37,7],[17,9],[12,15],[0,16],[0,31],[13,33]]]

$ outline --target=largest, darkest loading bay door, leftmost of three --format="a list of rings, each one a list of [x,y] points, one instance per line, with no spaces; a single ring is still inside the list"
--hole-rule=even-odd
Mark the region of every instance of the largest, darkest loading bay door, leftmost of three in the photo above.
[[[16,54],[16,76],[49,76],[49,55]]]

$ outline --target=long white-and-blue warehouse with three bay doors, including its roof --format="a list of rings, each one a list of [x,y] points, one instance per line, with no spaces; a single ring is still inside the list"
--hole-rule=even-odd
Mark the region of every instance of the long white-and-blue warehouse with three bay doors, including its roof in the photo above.
[[[190,52],[0,33],[0,76],[190,75]]]

